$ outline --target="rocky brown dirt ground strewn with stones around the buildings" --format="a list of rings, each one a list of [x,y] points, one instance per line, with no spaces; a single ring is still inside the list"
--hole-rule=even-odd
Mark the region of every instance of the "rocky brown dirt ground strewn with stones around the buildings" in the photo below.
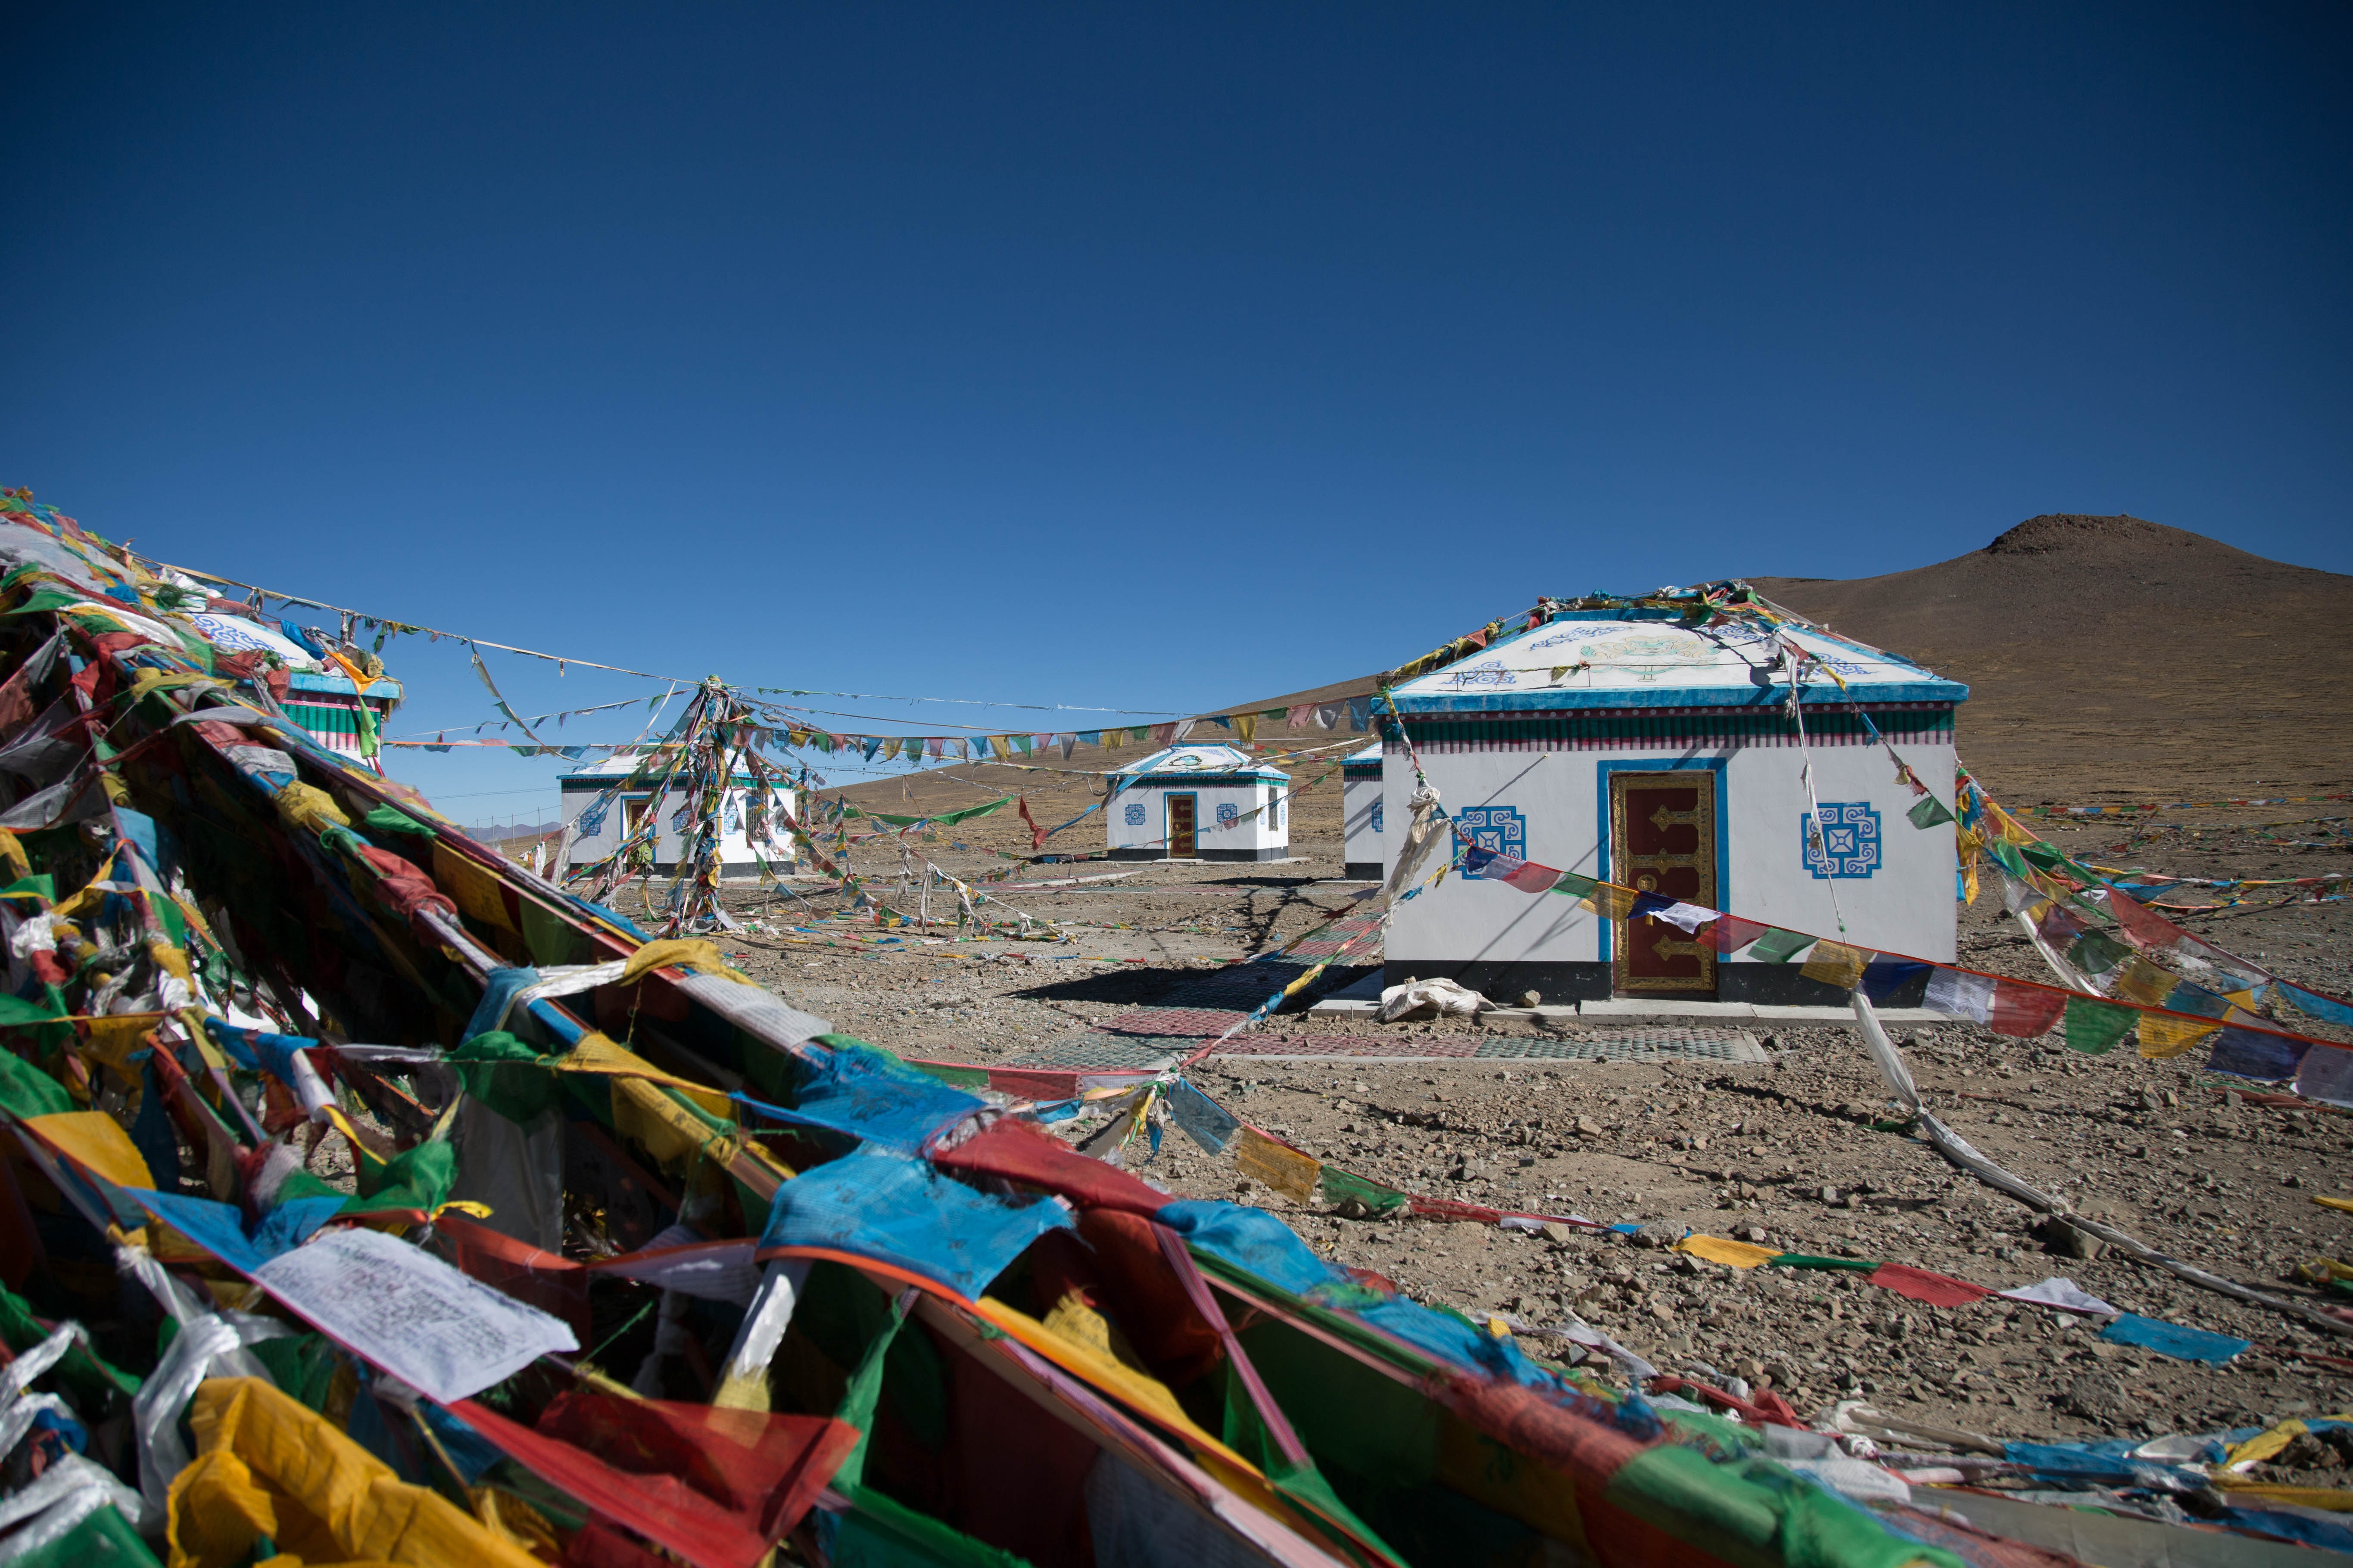
[[[2353,870],[2353,856],[2341,823],[2301,818],[2344,809],[2172,811],[2144,818],[2139,839],[2115,825],[2052,825],[2047,837],[2104,865],[2313,877]],[[2264,827],[2287,818],[2299,820]],[[861,867],[873,860],[852,853]],[[927,853],[958,875],[1005,865],[976,846]],[[1024,879],[1136,870],[1118,882],[1002,893],[1012,907],[1066,922],[1066,943],[868,952],[849,945],[859,929],[809,919],[838,903],[812,893],[809,903],[741,898],[741,912],[760,917],[765,931],[727,947],[758,980],[845,1032],[913,1058],[1002,1063],[1297,936],[1362,886],[1337,882],[1337,837],[1308,839],[1299,853],[1264,867],[1024,870]],[[2282,978],[2344,994],[2348,905],[2268,907],[2275,896],[2257,891],[2254,907],[2177,919]],[[816,931],[784,931],[788,914]],[[2040,961],[1991,891],[1962,914],[1962,959],[2040,978]],[[1346,973],[1360,971],[1332,971]],[[2289,1023],[2329,1034],[2292,1013]],[[1478,1030],[1306,1018],[1280,1027],[1388,1039]],[[1574,1312],[1664,1371],[1739,1375],[1784,1392],[1807,1415],[1835,1399],[1868,1399],[1894,1415],[2024,1439],[2212,1429],[2353,1406],[2353,1338],[2099,1255],[2097,1244],[2047,1239],[2031,1211],[1951,1168],[1927,1143],[1873,1131],[1889,1100],[1852,1030],[1758,1032],[1772,1053],[1760,1067],[1224,1056],[1195,1072],[1238,1117],[1381,1182],[1638,1222],[1635,1237],[1348,1220],[1289,1204],[1242,1178],[1231,1154],[1212,1159],[1174,1131],[1141,1173],[1176,1194],[1278,1211],[1318,1251],[1377,1269],[1417,1298],[1513,1312],[1534,1326]],[[2353,1255],[2353,1215],[2311,1201],[2353,1194],[2348,1112],[2264,1105],[2247,1093],[2252,1084],[2209,1077],[2188,1058],[2144,1060],[2129,1046],[2085,1058],[2057,1037],[2014,1041],[1965,1023],[1897,1037],[1929,1103],[1979,1150],[2160,1251],[2304,1300],[2315,1293],[2294,1284],[2297,1262]],[[2257,1349],[2228,1366],[2198,1366],[2106,1345],[2097,1324],[2040,1307],[1991,1300],[1937,1309],[1854,1274],[1725,1269],[1666,1251],[1685,1229],[1897,1260],[1993,1288],[2064,1274],[2122,1309],[2240,1335]],[[1546,1338],[1529,1338],[1527,1349],[1562,1354]],[[2311,1462],[2334,1460],[2315,1453]]]

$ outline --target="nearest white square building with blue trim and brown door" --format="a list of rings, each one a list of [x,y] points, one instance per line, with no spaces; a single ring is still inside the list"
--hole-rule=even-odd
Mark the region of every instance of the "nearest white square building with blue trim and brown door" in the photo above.
[[[1951,806],[1953,715],[1969,689],[1798,623],[1685,621],[1562,607],[1398,686],[1402,731],[1457,827],[1480,849],[1788,931],[1838,938],[1845,922],[1852,947],[1953,961],[1955,830],[1906,820],[1918,797],[1864,715]],[[1802,745],[1784,637],[1819,658],[1800,684]],[[1398,839],[1414,776],[1402,741],[1386,745]],[[1546,1001],[1845,1001],[1800,964],[1725,959],[1654,917],[1609,922],[1574,898],[1461,875],[1398,905],[1386,966],[1391,985],[1445,976]]]

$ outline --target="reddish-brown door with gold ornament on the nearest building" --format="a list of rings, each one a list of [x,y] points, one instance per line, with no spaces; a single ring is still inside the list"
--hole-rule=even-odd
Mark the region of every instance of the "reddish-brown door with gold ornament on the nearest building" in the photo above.
[[[1612,773],[1609,879],[1642,893],[1715,907],[1715,776]],[[1619,992],[1713,997],[1715,950],[1654,914],[1619,924]]]

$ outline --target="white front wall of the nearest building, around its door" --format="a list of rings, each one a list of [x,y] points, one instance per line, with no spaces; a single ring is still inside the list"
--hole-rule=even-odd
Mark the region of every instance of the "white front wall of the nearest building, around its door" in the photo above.
[[[1939,799],[1951,804],[1953,748],[1906,743],[1897,750],[1922,780],[1934,780]],[[1621,771],[1671,771],[1678,764],[1720,759],[1725,762],[1720,806],[1727,823],[1727,849],[1718,870],[1720,907],[1817,936],[1838,936],[1842,912],[1847,940],[1857,947],[1951,964],[1953,825],[1920,830],[1906,820],[1904,813],[1913,809],[1915,797],[1894,780],[1894,769],[1880,748],[1812,748],[1814,792],[1824,809],[1833,802],[1861,802],[1880,818],[1880,865],[1871,877],[1819,879],[1807,872],[1802,853],[1805,757],[1807,752],[1793,745],[1668,755],[1424,752],[1421,769],[1438,785],[1447,811],[1515,806],[1527,825],[1529,860],[1609,877],[1602,858],[1609,797],[1600,783],[1600,764],[1617,764]],[[1388,837],[1395,842],[1409,820],[1405,802],[1412,792],[1412,769],[1386,769],[1381,788]],[[1398,959],[1593,964],[1607,959],[1602,945],[1607,926],[1609,922],[1586,914],[1577,900],[1560,893],[1527,896],[1499,882],[1449,875],[1440,886],[1398,905],[1388,952]]]

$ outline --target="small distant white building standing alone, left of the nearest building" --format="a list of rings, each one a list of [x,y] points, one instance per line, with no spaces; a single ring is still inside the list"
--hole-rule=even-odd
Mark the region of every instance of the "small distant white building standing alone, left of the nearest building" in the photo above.
[[[1231,745],[1172,745],[1111,776],[1113,860],[1285,860],[1292,776]]]

